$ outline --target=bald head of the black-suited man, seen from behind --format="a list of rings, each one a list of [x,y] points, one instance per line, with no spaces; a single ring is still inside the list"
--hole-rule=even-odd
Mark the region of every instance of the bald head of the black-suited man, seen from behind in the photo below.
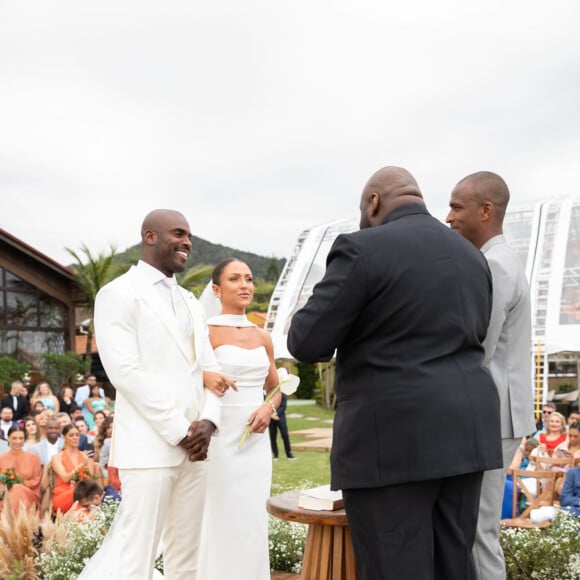
[[[412,203],[425,205],[415,178],[402,167],[383,167],[363,189],[360,228],[378,226],[393,210]]]

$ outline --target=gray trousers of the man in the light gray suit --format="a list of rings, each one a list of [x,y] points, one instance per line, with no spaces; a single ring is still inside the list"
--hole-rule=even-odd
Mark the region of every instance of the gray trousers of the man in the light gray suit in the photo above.
[[[505,580],[505,561],[499,543],[501,504],[505,476],[522,438],[502,439],[503,468],[486,471],[481,486],[479,516],[473,544],[478,580]]]

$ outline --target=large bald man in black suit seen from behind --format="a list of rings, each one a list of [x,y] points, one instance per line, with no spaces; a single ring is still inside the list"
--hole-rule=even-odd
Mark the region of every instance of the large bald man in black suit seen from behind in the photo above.
[[[481,366],[491,275],[402,168],[370,178],[360,211],[288,348],[307,362],[337,351],[332,488],[359,580],[468,580],[483,471],[502,463],[498,394]]]

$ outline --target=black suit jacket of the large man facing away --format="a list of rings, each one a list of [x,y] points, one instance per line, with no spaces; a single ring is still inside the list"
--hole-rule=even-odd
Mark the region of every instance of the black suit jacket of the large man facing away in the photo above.
[[[288,334],[302,361],[337,349],[334,489],[501,466],[499,399],[481,366],[490,311],[485,258],[422,205],[336,239]]]

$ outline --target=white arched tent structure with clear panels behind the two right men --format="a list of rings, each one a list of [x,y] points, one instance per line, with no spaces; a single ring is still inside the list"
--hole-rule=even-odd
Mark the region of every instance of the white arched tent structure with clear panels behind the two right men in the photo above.
[[[292,315],[322,278],[334,239],[357,229],[358,220],[349,219],[300,234],[268,310],[266,328],[277,358],[291,358],[286,336]],[[536,345],[544,355],[580,352],[580,197],[554,197],[510,208],[504,233],[526,265]]]

